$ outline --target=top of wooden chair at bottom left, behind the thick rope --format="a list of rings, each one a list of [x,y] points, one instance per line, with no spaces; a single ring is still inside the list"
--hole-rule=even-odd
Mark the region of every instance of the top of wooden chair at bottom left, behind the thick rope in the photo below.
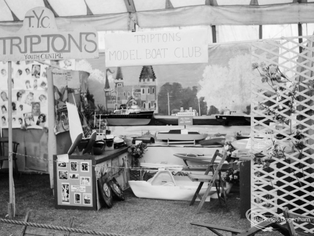
[[[32,210],[27,211],[24,222],[29,221],[31,212],[32,212]],[[72,228],[73,220],[74,220],[74,217],[70,217],[68,228]],[[27,226],[27,225],[23,226],[21,236],[70,236],[70,233],[71,233],[69,231],[67,231],[65,233],[56,233],[55,232],[56,230],[53,230],[53,232],[51,232],[51,231],[50,232],[49,231],[40,231],[35,227],[32,227],[35,229],[30,229],[28,227],[31,227],[31,226]]]

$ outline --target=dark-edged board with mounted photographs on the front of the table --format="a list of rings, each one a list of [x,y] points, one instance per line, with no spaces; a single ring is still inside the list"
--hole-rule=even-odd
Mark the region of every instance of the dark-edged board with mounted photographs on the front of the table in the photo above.
[[[86,157],[69,156],[65,163],[53,156],[56,208],[96,209],[95,161]]]

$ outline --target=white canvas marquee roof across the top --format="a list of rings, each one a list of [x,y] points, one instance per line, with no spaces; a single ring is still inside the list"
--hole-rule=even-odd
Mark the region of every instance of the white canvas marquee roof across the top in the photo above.
[[[0,29],[11,32],[38,6],[52,10],[59,30],[84,23],[97,31],[314,23],[314,0],[0,0],[0,6]]]

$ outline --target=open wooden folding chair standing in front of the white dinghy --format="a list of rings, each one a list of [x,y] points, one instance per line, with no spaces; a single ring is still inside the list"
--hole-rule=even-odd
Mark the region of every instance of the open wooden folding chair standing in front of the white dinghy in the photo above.
[[[218,165],[215,164],[215,160],[216,160],[217,156],[221,157],[221,160],[220,160]],[[221,169],[222,165],[224,164],[226,157],[227,157],[227,153],[225,153],[223,155],[223,154],[219,153],[219,150],[216,150],[214,155],[213,155],[213,158],[210,161],[209,166],[207,167],[204,174],[188,174],[188,177],[192,181],[200,182],[198,185],[198,188],[196,189],[196,192],[195,192],[195,194],[194,194],[194,196],[190,202],[190,206],[192,206],[197,197],[201,200],[200,203],[198,204],[197,209],[196,209],[196,213],[198,213],[201,210],[201,208],[202,208],[202,206],[203,206],[203,204],[204,204],[204,202],[205,202],[205,200],[206,200],[206,198],[207,198],[207,196],[208,196],[209,192],[211,191],[211,188],[213,187],[214,184],[216,187],[219,202],[220,202],[220,200],[223,200],[226,204],[227,210],[229,211],[229,208],[227,205],[227,195],[225,192],[224,183],[221,179],[221,173],[220,173],[220,169]],[[213,176],[209,175],[210,171],[212,171]],[[207,187],[203,197],[201,197],[199,195],[199,191],[201,190],[204,182],[208,183],[208,187]],[[222,189],[223,198],[220,196],[220,186]]]

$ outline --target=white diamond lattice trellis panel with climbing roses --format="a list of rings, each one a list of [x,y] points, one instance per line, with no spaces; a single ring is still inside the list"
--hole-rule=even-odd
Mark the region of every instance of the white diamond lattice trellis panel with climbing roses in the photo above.
[[[314,37],[299,38],[252,43],[251,151],[264,157],[252,155],[251,207],[278,216],[284,206],[314,214]],[[314,233],[313,225],[296,223]]]

